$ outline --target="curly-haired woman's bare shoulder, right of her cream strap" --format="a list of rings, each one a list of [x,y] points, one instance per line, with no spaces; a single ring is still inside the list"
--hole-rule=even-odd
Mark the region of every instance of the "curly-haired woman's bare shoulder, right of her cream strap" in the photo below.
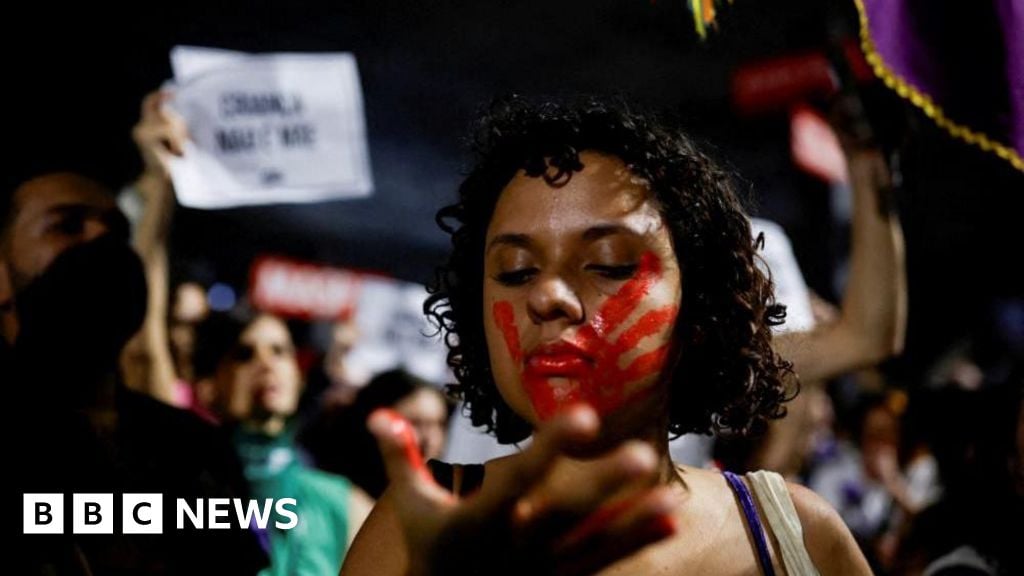
[[[793,505],[804,529],[804,543],[822,575],[870,574],[867,560],[839,512],[813,491],[787,484]]]

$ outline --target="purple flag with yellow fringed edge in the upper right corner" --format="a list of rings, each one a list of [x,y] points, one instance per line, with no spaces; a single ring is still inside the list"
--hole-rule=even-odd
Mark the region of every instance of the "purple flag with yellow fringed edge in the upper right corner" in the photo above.
[[[854,2],[886,85],[1024,171],[1024,0]]]

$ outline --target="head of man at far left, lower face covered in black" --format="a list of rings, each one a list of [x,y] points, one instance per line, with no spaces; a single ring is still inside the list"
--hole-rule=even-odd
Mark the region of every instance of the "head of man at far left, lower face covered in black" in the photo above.
[[[66,403],[70,396],[49,388],[68,380],[80,382],[74,396],[92,397],[141,322],[134,294],[145,279],[126,242],[127,222],[103,186],[81,173],[43,171],[4,192],[3,372],[34,381],[16,390],[25,401],[38,396]],[[94,399],[86,402],[99,407]]]

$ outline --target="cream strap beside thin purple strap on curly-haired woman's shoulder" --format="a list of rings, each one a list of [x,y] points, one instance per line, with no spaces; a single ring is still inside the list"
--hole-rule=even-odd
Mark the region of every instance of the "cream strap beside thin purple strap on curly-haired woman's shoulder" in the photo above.
[[[818,570],[804,545],[804,529],[800,525],[800,517],[797,516],[785,481],[778,474],[767,470],[748,472],[746,481],[775,535],[786,574],[817,576]]]

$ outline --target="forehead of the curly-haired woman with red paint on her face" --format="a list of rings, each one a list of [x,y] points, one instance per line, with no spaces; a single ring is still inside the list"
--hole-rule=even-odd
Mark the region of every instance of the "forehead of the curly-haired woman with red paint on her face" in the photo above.
[[[601,223],[646,234],[662,222],[647,183],[622,160],[584,152],[580,161],[583,170],[563,186],[517,173],[498,199],[487,236],[571,234]]]

